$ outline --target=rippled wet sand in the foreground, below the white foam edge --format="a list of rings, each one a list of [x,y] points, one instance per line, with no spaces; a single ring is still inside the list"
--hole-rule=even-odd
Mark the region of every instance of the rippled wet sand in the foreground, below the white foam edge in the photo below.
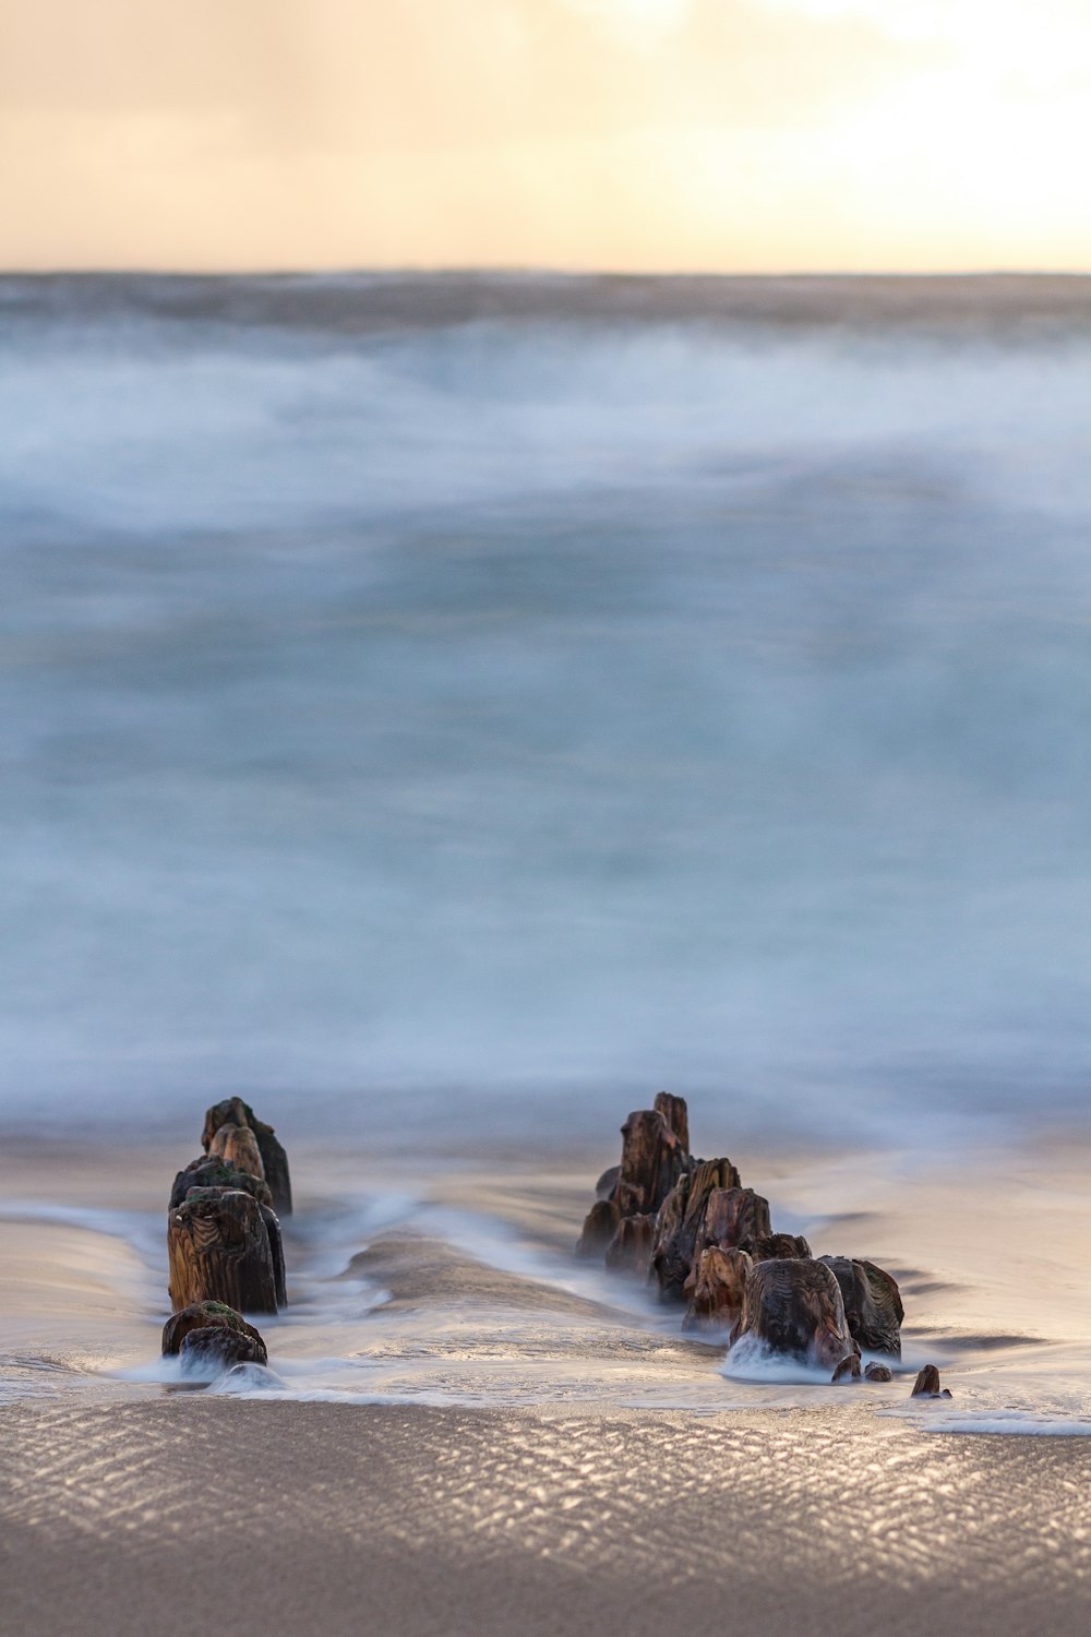
[[[1091,1444],[839,1413],[20,1403],[5,1629],[1083,1634]]]

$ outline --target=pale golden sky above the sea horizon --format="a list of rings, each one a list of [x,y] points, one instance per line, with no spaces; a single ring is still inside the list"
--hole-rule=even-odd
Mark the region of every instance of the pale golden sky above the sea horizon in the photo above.
[[[0,0],[0,265],[1091,268],[1091,0]]]

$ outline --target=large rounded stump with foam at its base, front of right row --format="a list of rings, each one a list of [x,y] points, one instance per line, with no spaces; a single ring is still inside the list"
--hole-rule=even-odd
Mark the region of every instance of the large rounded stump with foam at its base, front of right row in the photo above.
[[[748,1341],[803,1364],[836,1370],[855,1352],[841,1287],[824,1262],[775,1257],[754,1262],[731,1347]]]

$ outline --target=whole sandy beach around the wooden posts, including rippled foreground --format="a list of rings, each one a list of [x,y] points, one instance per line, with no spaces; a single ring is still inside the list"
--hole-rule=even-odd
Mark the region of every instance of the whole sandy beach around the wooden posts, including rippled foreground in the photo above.
[[[859,1157],[764,1161],[782,1220],[816,1251],[851,1234],[921,1252],[898,1264],[906,1372],[939,1357],[955,1398],[916,1408],[906,1373],[849,1390],[726,1380],[723,1347],[680,1336],[677,1311],[581,1269],[571,1244],[595,1157],[504,1185],[487,1167],[433,1166],[414,1192],[393,1162],[303,1151],[293,1303],[263,1321],[286,1390],[229,1398],[155,1378],[170,1149],[10,1146],[5,1629],[1086,1629],[1091,1441],[1048,1436],[1062,1409],[1080,1431],[1073,1360],[1086,1370],[1081,1319],[1057,1331],[1084,1254],[1086,1205],[1063,1187],[1078,1152],[1012,1159],[1003,1187],[993,1174],[955,1190],[934,1170],[855,1193]],[[1052,1336],[1017,1328],[1017,1257],[1016,1283],[973,1285],[1006,1202],[1029,1213],[1047,1166],[1044,1226],[1071,1256],[1058,1252],[1058,1301],[1039,1305]],[[834,1187],[847,1205],[873,1197],[823,1218]],[[941,1431],[991,1426],[1004,1405],[1039,1436]]]

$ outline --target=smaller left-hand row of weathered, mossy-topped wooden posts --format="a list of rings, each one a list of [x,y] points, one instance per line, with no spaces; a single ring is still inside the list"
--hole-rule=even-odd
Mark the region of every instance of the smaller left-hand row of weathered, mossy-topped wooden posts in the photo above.
[[[263,1369],[265,1342],[242,1315],[278,1313],[288,1300],[280,1231],[291,1215],[288,1156],[240,1097],[208,1110],[201,1148],[170,1190],[164,1354],[195,1377]]]

